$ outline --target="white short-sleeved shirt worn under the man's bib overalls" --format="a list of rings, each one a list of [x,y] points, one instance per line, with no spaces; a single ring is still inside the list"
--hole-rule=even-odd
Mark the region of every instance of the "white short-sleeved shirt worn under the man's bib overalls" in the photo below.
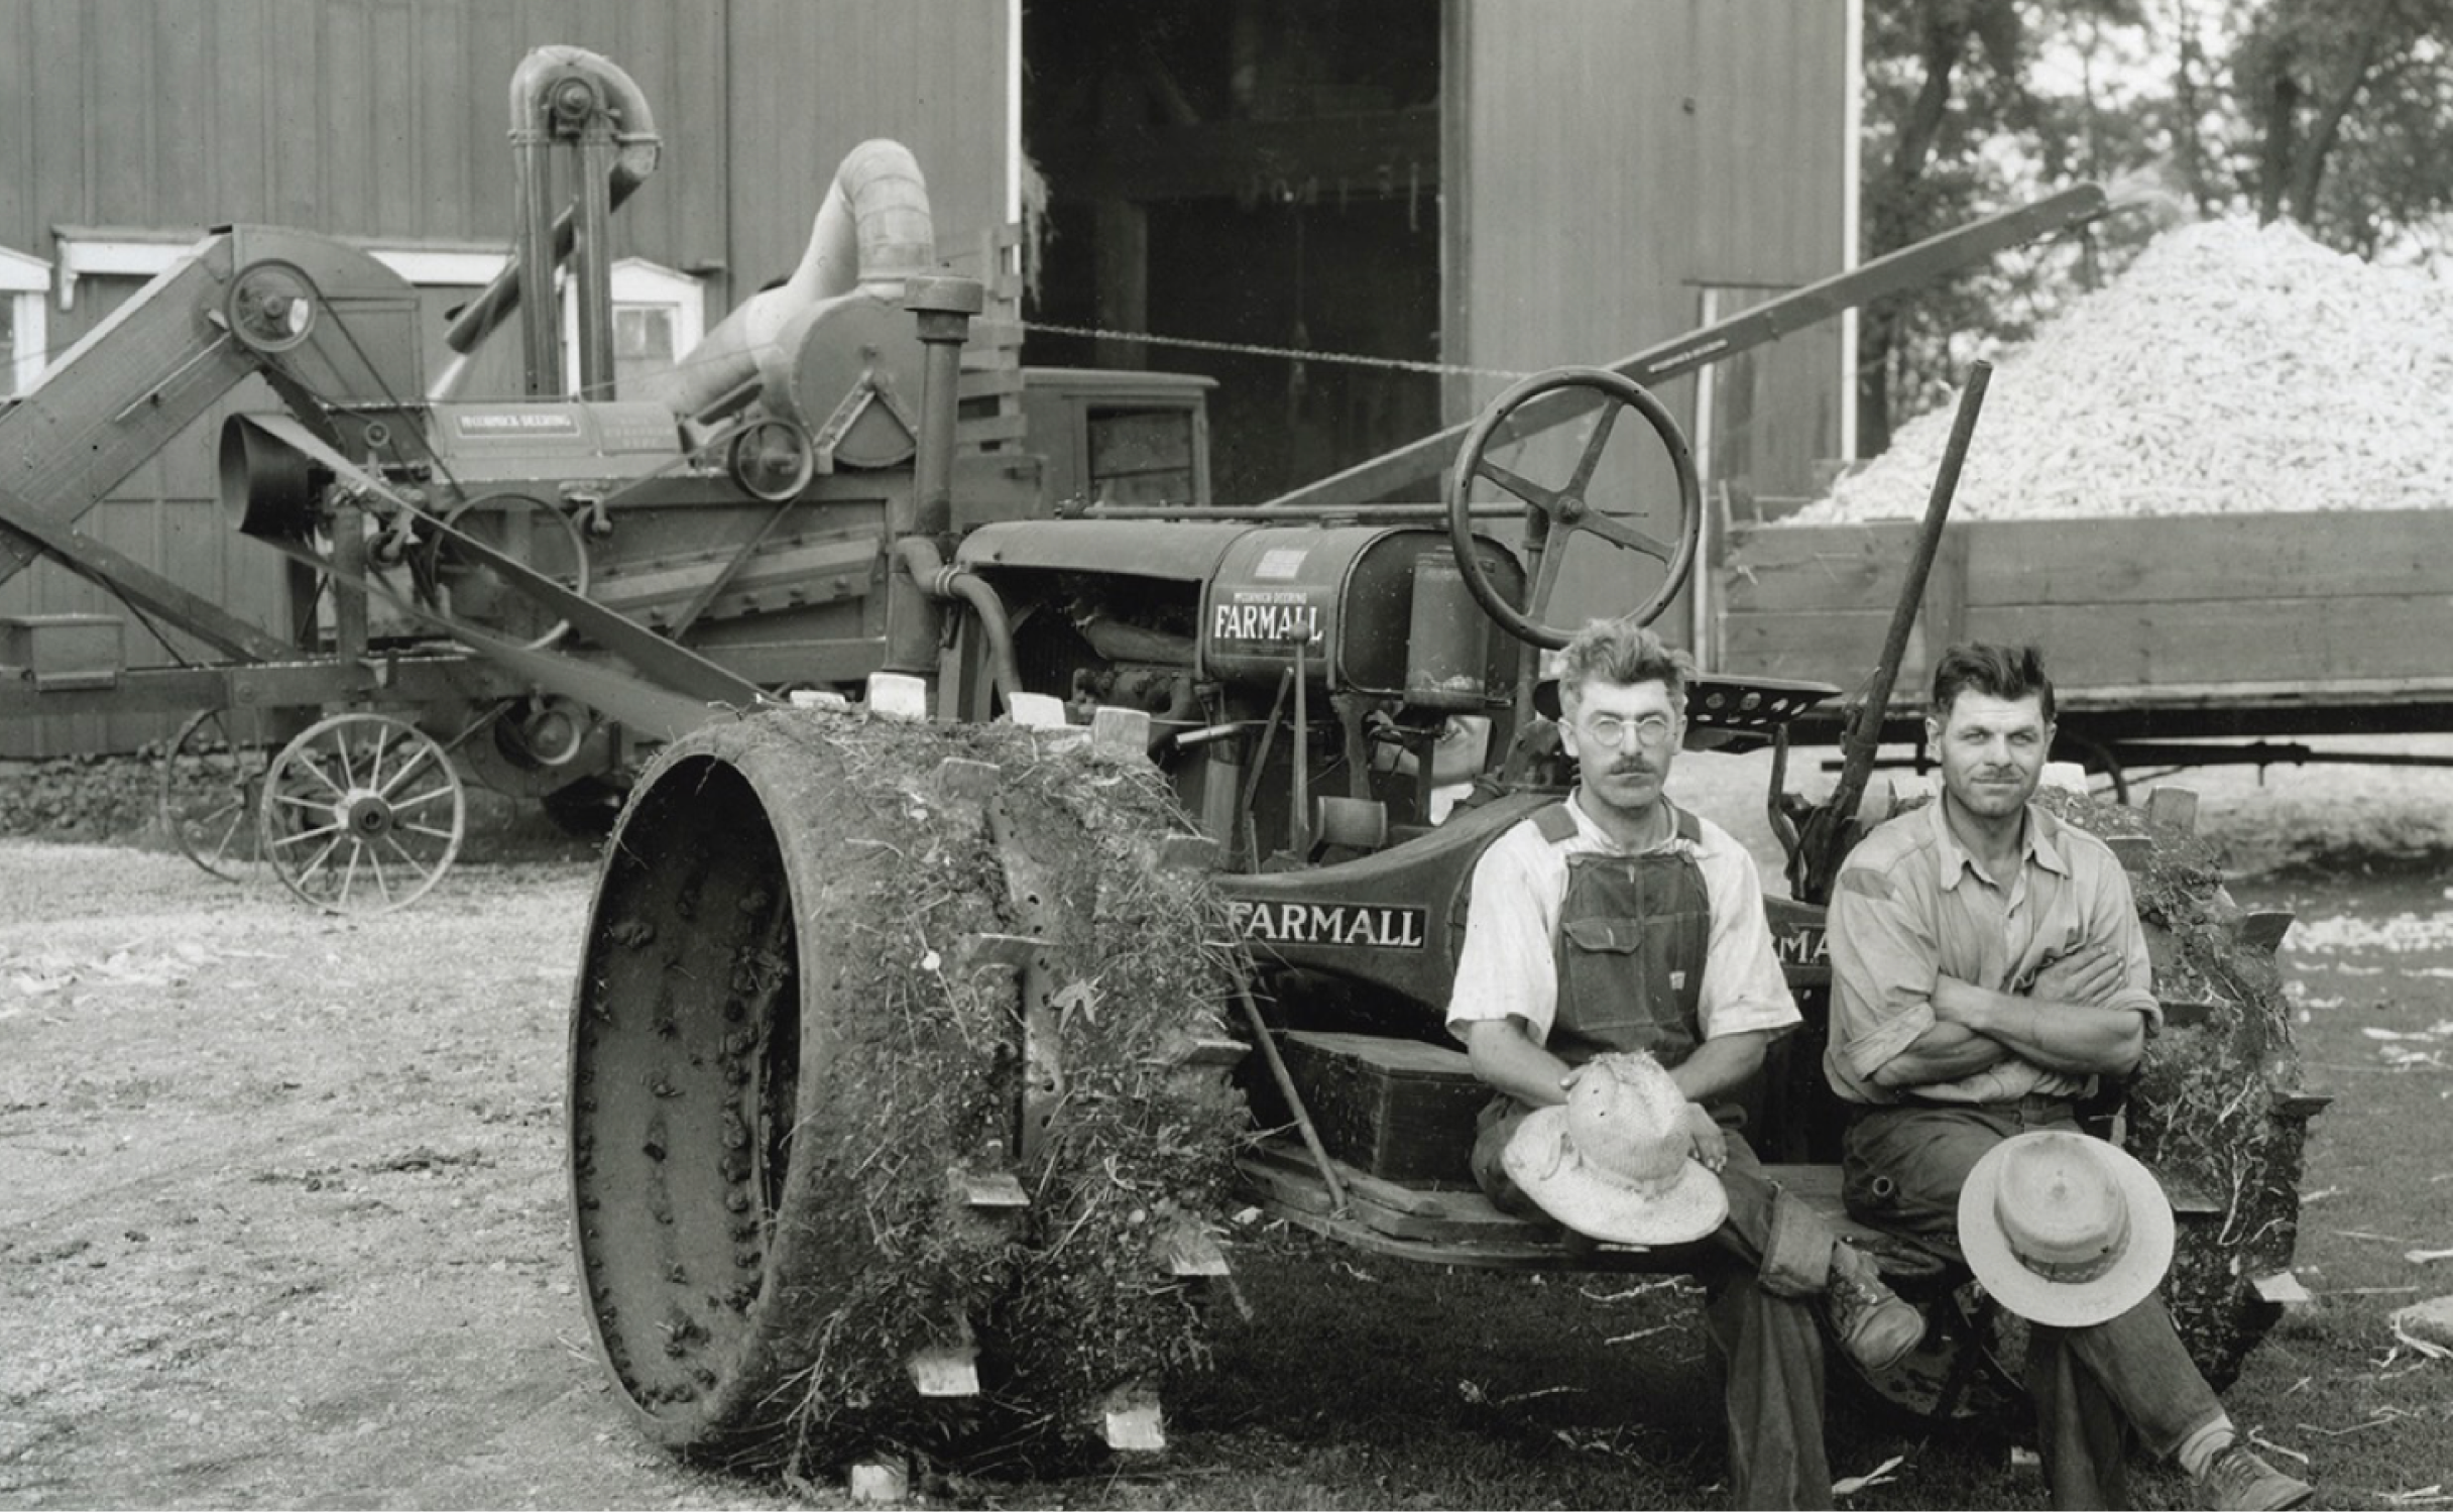
[[[1555,940],[1558,911],[1567,898],[1567,857],[1636,854],[1604,835],[1580,798],[1582,788],[1567,800],[1575,837],[1553,844],[1528,817],[1494,839],[1474,864],[1457,984],[1447,997],[1447,1028],[1457,1038],[1464,1038],[1464,1026],[1479,1019],[1523,1019],[1536,1046],[1550,1038],[1550,1024],[1558,1019]],[[1670,839],[1653,847],[1688,849],[1695,857],[1712,911],[1695,1038],[1793,1028],[1801,1024],[1798,1001],[1788,994],[1781,960],[1771,950],[1771,920],[1764,918],[1764,884],[1754,871],[1754,857],[1712,820],[1695,815],[1695,827],[1700,839],[1693,844],[1678,839],[1673,825]]]

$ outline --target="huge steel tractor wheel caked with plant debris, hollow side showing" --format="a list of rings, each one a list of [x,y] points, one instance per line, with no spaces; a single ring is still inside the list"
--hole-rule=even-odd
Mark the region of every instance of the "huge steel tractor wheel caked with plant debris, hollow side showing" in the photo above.
[[[1231,933],[1160,864],[1155,768],[1043,739],[783,709],[633,788],[567,1109],[591,1330],[650,1438],[807,1473],[1126,1448],[1204,1357]]]

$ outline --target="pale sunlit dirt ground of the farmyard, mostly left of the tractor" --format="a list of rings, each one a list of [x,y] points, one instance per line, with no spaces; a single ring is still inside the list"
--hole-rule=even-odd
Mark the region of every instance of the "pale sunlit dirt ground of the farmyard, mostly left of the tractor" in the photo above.
[[[2213,785],[2252,825],[2296,803]],[[650,1448],[591,1355],[559,1124],[589,881],[461,864],[331,920],[169,854],[0,842],[0,1500],[807,1505]],[[2294,901],[2340,967],[2411,896]]]

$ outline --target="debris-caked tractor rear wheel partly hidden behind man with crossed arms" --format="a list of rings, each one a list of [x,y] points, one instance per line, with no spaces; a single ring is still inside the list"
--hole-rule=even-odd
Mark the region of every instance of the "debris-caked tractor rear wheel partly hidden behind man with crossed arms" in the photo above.
[[[2291,916],[2232,901],[2215,849],[2193,835],[2188,793],[2164,790],[2144,808],[2056,790],[2041,803],[2105,837],[2129,871],[2166,1024],[2129,1078],[2114,1136],[2171,1198],[2178,1237],[2164,1306],[2220,1392],[2281,1318],[2298,1244],[2301,1151],[2325,1105],[2301,1087],[2274,962]],[[1943,1325],[1928,1345],[1874,1377],[1874,1392],[1921,1416],[1984,1414],[2019,1399],[2026,1325],[1975,1284],[1938,1311]]]

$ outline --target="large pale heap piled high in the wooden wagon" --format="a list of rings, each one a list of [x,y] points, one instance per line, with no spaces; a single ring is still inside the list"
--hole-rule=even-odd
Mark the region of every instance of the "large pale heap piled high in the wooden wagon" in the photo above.
[[[2433,508],[2453,501],[2453,285],[2276,221],[2154,241],[1994,363],[1953,518]],[[1953,405],[1801,525],[1918,518]]]

